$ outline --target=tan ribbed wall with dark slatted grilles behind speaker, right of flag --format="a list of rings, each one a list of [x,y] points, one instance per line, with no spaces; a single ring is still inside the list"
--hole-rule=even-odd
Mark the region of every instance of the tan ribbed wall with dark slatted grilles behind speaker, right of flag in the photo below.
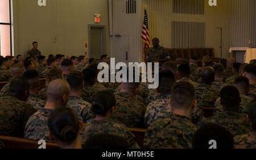
[[[182,5],[185,1],[187,0],[180,0],[183,3],[177,6],[179,10],[185,13],[199,10],[198,7],[194,9],[195,11],[192,8],[185,7],[185,5]],[[222,53],[223,57],[227,57],[230,45],[230,0],[217,1],[217,6],[209,6],[208,0],[204,0],[204,9],[201,9],[201,12],[204,12],[204,14],[176,13],[173,11],[173,2],[173,0],[142,0],[142,6],[147,6],[150,38],[158,37],[160,45],[166,48],[194,48],[202,47],[200,44],[204,44],[205,46],[203,47],[214,48],[216,57],[221,57],[221,31],[219,29],[221,27]],[[197,3],[199,1],[187,1],[188,6],[196,6]],[[189,43],[185,40],[180,40],[179,36],[186,32],[191,32],[191,24],[183,23],[181,27],[183,27],[185,32],[177,33],[176,30],[173,31],[173,22],[204,23],[205,29],[199,27],[196,28],[196,31],[200,33],[202,30],[205,30],[205,35],[202,35],[204,36],[202,40],[205,40],[205,42],[200,42],[197,36],[189,41]],[[177,39],[173,39],[174,36]]]

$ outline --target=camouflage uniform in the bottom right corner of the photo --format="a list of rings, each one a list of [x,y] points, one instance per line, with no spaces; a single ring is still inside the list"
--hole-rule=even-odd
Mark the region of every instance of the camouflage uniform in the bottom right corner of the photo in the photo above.
[[[234,147],[237,149],[256,149],[256,132],[234,137]]]

